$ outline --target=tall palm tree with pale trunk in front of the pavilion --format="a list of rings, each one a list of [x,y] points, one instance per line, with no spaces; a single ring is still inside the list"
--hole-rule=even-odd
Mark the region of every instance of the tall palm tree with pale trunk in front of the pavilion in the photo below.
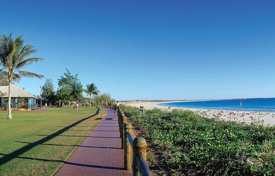
[[[28,66],[37,61],[42,61],[42,58],[32,57],[27,58],[30,55],[37,53],[37,49],[33,49],[31,44],[23,46],[24,38],[22,35],[12,39],[12,33],[9,35],[2,34],[0,36],[0,64],[6,70],[8,77],[8,119],[12,119],[11,116],[11,84],[13,81],[19,82],[21,77],[37,77],[42,79],[43,75],[36,73],[23,71],[25,66]]]

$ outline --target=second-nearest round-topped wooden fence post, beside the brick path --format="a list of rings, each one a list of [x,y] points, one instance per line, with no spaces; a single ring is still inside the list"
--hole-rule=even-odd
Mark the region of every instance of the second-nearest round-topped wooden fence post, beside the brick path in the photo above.
[[[132,124],[126,123],[123,126],[124,128],[124,169],[125,170],[132,170],[132,164],[133,164],[133,151],[132,147],[129,143],[129,140],[127,138],[126,133],[132,133]]]

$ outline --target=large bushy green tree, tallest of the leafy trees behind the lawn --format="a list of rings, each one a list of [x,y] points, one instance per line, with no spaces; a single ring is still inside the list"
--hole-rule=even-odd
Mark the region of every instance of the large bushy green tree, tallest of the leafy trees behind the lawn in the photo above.
[[[71,75],[68,69],[64,76],[60,76],[58,80],[58,89],[56,92],[57,98],[61,101],[79,101],[82,97],[83,86],[79,79],[77,79],[78,74],[75,76]]]

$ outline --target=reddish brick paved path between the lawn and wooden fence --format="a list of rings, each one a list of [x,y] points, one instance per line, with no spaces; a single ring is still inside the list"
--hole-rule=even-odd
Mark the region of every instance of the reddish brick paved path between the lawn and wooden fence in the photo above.
[[[123,170],[124,151],[119,138],[118,117],[113,109],[85,138],[55,176],[132,175]]]

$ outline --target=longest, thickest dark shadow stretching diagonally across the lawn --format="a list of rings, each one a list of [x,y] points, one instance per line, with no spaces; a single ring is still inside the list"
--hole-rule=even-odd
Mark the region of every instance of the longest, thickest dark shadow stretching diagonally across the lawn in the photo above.
[[[26,151],[34,148],[35,146],[40,145],[42,143],[45,143],[45,142],[51,140],[52,138],[54,138],[56,136],[59,136],[60,134],[64,133],[65,131],[68,131],[71,127],[76,126],[77,124],[79,124],[79,123],[81,123],[81,122],[83,122],[83,121],[85,121],[87,119],[90,119],[91,117],[94,117],[94,116],[96,116],[98,114],[99,114],[99,108],[97,108],[96,113],[94,115],[90,116],[90,117],[86,117],[86,118],[84,118],[82,120],[79,120],[79,121],[77,121],[77,122],[75,122],[75,123],[73,123],[73,124],[71,124],[71,125],[69,125],[69,126],[67,126],[65,128],[62,128],[59,131],[56,131],[55,133],[53,133],[53,134],[51,134],[51,135],[49,135],[47,137],[44,137],[44,138],[40,139],[39,141],[36,141],[34,143],[30,143],[30,144],[28,144],[28,145],[26,145],[26,146],[24,146],[24,147],[22,147],[22,148],[20,148],[20,149],[18,149],[16,151],[12,152],[12,153],[10,153],[10,154],[4,155],[4,157],[2,157],[1,160],[0,160],[0,165],[2,165],[4,163],[12,160],[13,158],[17,158],[19,155],[21,155],[21,154],[25,153]]]

